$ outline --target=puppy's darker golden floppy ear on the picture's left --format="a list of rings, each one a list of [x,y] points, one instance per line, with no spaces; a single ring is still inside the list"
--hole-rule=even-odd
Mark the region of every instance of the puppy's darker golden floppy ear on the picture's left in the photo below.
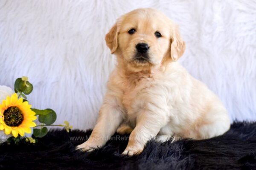
[[[115,53],[118,47],[118,34],[119,31],[117,28],[117,23],[115,23],[105,37],[105,41],[108,45],[108,48],[111,50],[111,54]]]

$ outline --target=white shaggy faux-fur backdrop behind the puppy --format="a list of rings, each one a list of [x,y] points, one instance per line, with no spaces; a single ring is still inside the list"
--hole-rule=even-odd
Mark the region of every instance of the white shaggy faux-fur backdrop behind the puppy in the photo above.
[[[0,85],[28,76],[33,107],[54,109],[57,123],[93,127],[116,62],[105,34],[141,7],[180,25],[180,63],[218,94],[231,119],[256,120],[255,0],[0,0]]]

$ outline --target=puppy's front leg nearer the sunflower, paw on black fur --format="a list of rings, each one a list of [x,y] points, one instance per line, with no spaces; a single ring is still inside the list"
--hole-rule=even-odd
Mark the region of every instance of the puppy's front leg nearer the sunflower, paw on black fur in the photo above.
[[[102,105],[99,118],[89,139],[76,147],[82,151],[92,151],[102,147],[109,138],[116,132],[117,127],[123,119],[123,110],[115,97],[106,95]]]

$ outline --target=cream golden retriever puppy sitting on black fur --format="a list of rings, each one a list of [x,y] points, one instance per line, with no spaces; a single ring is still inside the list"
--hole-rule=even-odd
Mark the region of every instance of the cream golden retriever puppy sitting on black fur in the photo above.
[[[129,133],[123,154],[143,151],[155,138],[208,139],[225,133],[230,119],[218,97],[177,61],[185,42],[163,13],[141,8],[120,17],[105,37],[117,65],[90,138],[77,149],[102,147],[116,132]]]

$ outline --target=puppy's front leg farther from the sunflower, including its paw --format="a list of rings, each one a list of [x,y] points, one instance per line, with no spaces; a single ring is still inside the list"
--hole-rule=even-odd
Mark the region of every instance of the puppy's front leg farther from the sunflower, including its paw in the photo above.
[[[151,110],[152,108],[154,109]],[[139,115],[137,125],[131,132],[128,145],[122,154],[131,156],[142,152],[146,142],[154,138],[168,122],[166,111],[152,103],[148,103],[148,107],[141,110]]]

